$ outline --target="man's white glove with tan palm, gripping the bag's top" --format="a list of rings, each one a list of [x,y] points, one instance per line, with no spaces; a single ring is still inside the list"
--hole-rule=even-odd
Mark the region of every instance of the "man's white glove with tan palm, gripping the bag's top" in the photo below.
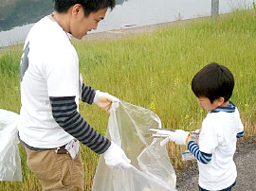
[[[119,99],[116,96],[97,90],[93,102],[102,110],[109,112],[112,103],[119,103]],[[116,104],[115,108],[117,109],[118,107],[119,105]]]

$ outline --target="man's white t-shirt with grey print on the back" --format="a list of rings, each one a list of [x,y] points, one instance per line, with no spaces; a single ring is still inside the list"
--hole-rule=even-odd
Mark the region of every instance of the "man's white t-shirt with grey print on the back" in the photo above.
[[[33,148],[57,148],[74,137],[53,118],[49,96],[80,95],[79,59],[69,34],[47,16],[27,36],[21,61],[19,135]]]

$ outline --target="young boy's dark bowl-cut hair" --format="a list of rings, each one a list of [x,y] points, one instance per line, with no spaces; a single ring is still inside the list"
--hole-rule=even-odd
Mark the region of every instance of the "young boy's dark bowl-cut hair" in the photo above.
[[[192,78],[192,92],[195,96],[207,97],[212,103],[221,96],[225,102],[232,96],[234,78],[229,69],[219,63],[212,62],[203,67]]]

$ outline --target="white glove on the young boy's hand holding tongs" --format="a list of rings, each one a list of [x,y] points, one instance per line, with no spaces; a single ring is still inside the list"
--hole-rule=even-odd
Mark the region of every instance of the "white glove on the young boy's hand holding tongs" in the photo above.
[[[172,132],[172,131],[171,131]],[[190,132],[185,130],[175,130],[174,132],[169,132],[169,137],[161,141],[160,146],[166,145],[169,141],[173,141],[176,145],[187,145],[186,141]]]

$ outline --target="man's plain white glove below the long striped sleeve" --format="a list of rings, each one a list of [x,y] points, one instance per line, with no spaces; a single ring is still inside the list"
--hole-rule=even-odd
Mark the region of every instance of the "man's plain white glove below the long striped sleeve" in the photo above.
[[[110,168],[130,168],[131,160],[127,158],[124,151],[113,141],[111,146],[104,152],[106,165]]]

